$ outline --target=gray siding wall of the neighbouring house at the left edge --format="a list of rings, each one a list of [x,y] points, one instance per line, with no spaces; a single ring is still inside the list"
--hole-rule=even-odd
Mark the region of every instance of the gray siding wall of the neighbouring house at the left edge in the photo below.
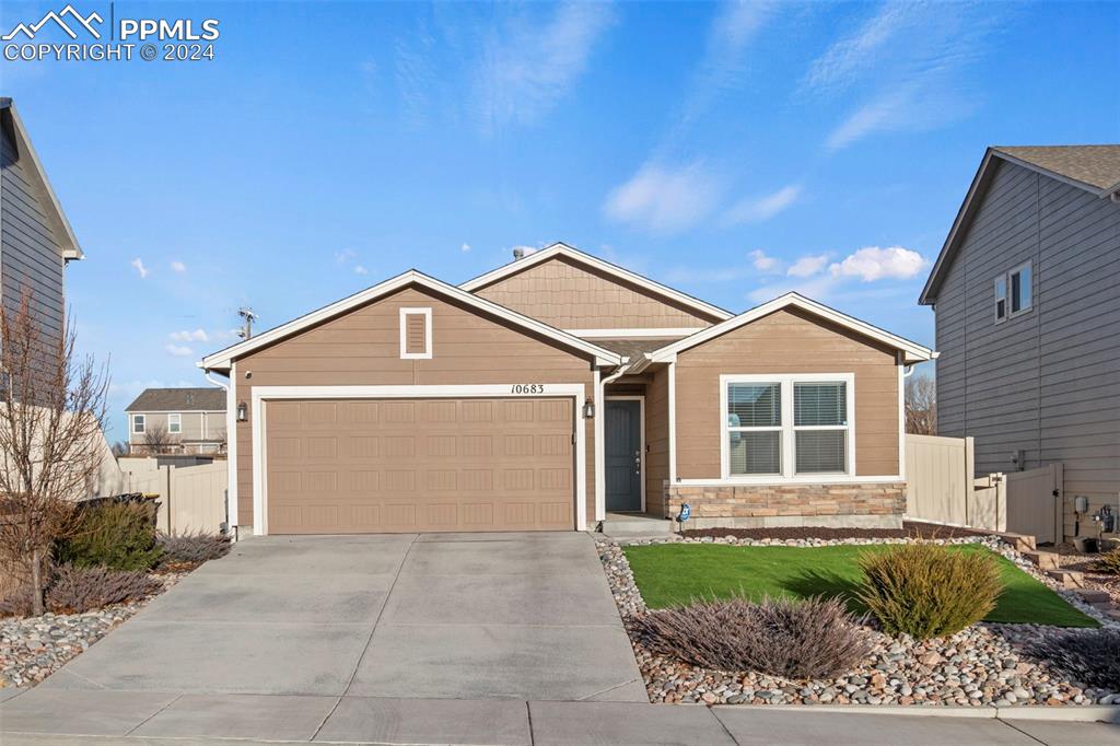
[[[65,317],[65,261],[47,218],[47,196],[7,132],[0,141],[0,296],[4,307],[12,309],[19,306],[22,289],[29,288],[41,328],[59,335]]]

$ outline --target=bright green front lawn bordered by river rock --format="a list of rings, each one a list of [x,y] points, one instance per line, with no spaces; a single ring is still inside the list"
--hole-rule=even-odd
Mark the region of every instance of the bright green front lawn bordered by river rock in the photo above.
[[[871,547],[728,547],[721,544],[645,544],[626,547],[642,597],[650,608],[683,606],[696,598],[763,596],[843,596],[852,610],[860,605],[852,591],[862,579],[857,558],[861,552],[886,551]],[[952,551],[992,553],[1006,589],[989,622],[1096,627],[1094,619],[1066,604],[1061,596],[1010,561],[976,544]]]

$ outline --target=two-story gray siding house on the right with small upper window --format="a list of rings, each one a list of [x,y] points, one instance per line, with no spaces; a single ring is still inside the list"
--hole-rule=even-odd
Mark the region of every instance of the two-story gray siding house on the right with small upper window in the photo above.
[[[939,435],[978,474],[1062,463],[1066,535],[1077,495],[1118,510],[1120,144],[989,148],[920,302]]]

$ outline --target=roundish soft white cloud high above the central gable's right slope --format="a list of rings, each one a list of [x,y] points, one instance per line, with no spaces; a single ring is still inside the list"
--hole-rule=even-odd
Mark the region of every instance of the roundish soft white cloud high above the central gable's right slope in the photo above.
[[[673,233],[700,222],[715,207],[719,180],[699,162],[679,168],[646,164],[607,196],[608,217],[654,233]]]

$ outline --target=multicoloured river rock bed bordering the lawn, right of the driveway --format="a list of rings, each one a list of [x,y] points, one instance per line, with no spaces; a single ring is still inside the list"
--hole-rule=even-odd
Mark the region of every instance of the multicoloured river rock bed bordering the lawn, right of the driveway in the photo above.
[[[690,665],[652,653],[642,644],[634,622],[646,613],[646,608],[626,556],[617,542],[606,538],[597,541],[599,559],[629,632],[652,702],[926,707],[1120,705],[1120,694],[1065,680],[1044,663],[1024,654],[1021,651],[1027,644],[1053,634],[1052,628],[1035,625],[978,624],[946,640],[925,642],[895,638],[872,630],[875,650],[871,656],[837,679],[787,681],[755,672]],[[852,543],[872,541],[865,539]],[[984,543],[991,542],[986,540]],[[1001,553],[1008,553],[1006,547],[1000,549]]]

